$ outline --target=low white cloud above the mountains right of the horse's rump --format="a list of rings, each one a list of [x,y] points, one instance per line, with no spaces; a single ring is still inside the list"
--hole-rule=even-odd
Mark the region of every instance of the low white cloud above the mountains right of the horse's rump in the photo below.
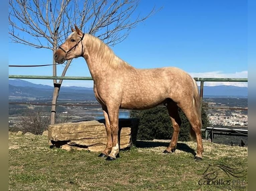
[[[223,73],[222,71],[204,72],[204,73],[189,73],[193,78],[248,78],[248,71],[236,73]],[[200,85],[200,82],[198,82]],[[205,86],[239,86],[248,87],[247,82],[204,82]]]

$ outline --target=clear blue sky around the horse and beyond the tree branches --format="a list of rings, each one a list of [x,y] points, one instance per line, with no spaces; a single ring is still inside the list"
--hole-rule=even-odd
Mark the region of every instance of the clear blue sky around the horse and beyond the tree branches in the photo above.
[[[153,6],[162,9],[111,47],[117,56],[136,68],[174,66],[193,77],[247,78],[247,1],[141,0],[137,14],[146,15]],[[9,65],[51,62],[50,50],[9,43]],[[63,68],[57,67],[58,75]],[[52,67],[9,68],[9,75],[52,76]],[[66,76],[90,76],[85,60],[73,60]],[[52,86],[52,80],[27,81]],[[247,87],[247,83],[205,85],[220,84]],[[93,82],[64,80],[62,86],[92,87]]]

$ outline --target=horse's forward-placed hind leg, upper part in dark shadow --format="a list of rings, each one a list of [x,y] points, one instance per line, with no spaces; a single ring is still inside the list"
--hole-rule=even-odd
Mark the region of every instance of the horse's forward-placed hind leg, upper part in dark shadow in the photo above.
[[[163,151],[164,153],[170,153],[175,151],[179,135],[179,127],[181,125],[177,104],[174,101],[169,101],[167,103],[167,109],[173,127],[173,134],[171,137],[170,145]]]

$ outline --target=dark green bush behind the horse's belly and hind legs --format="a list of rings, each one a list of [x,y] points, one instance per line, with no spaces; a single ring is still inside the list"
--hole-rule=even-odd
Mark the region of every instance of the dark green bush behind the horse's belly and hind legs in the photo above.
[[[207,106],[207,103],[204,103],[204,109],[202,109],[202,128],[209,125],[206,113]],[[179,109],[179,115],[182,124],[178,140],[187,141],[189,140],[189,122],[181,109]],[[154,107],[141,111],[132,110],[130,111],[130,116],[140,119],[137,139],[171,139],[173,128],[166,107]],[[202,133],[202,136],[204,138],[205,133]]]

